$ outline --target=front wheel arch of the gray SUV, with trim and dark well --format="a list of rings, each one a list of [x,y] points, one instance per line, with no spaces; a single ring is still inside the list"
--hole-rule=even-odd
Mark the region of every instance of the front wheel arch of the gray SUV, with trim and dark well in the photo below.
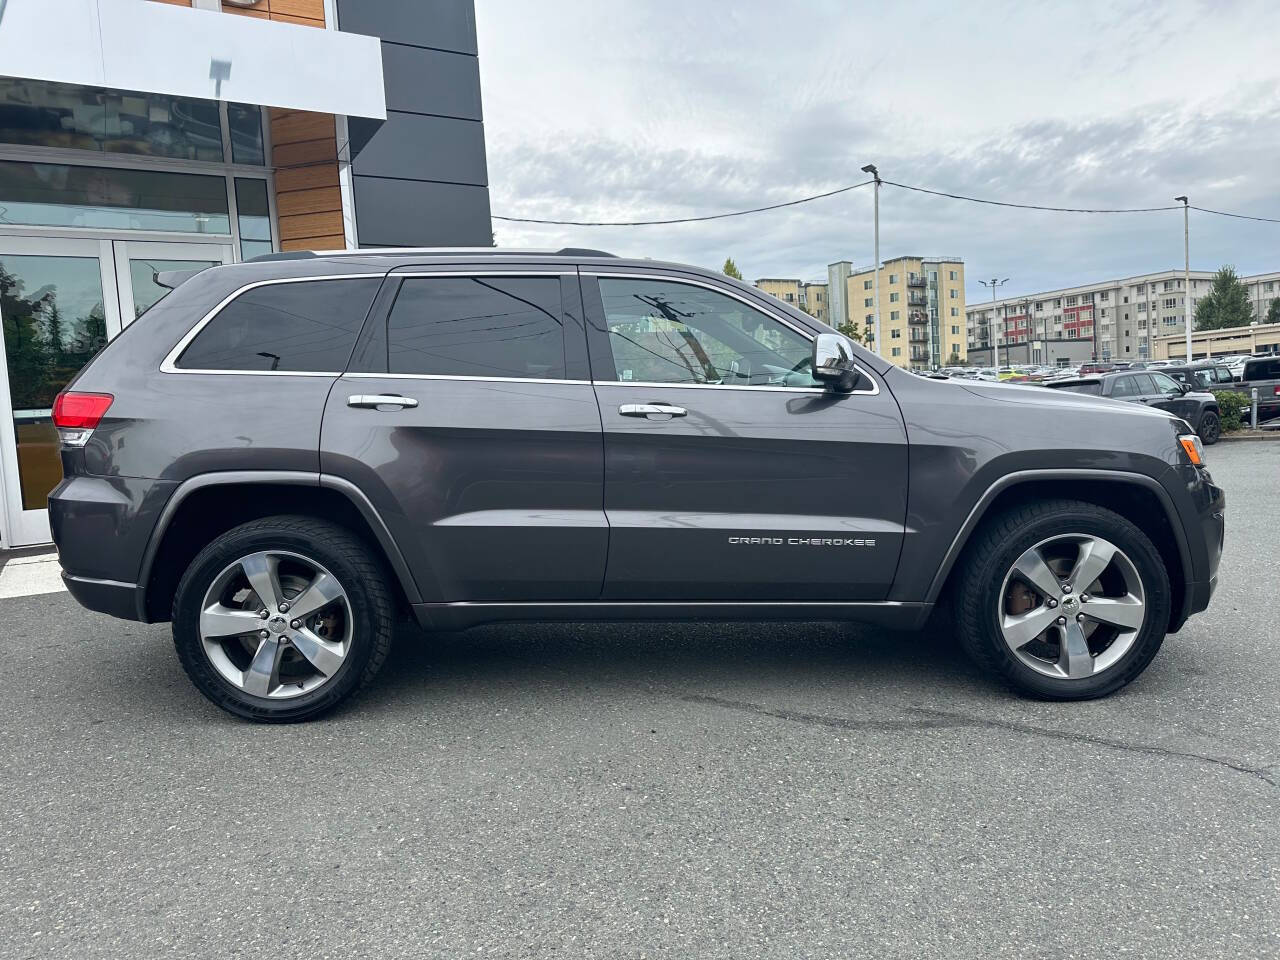
[[[1169,492],[1146,474],[1116,470],[1027,470],[1002,476],[978,498],[956,532],[929,584],[925,602],[938,602],[950,588],[956,562],[983,521],[1023,500],[1065,498],[1114,509],[1134,521],[1151,538],[1169,568],[1172,621],[1170,632],[1185,620],[1187,584],[1192,576],[1190,548]]]

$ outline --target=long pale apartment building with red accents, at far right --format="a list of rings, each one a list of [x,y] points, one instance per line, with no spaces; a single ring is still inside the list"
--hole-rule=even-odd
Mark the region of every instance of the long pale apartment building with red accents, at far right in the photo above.
[[[965,311],[970,357],[992,365],[1156,358],[1156,339],[1185,329],[1188,311],[1194,317],[1215,273],[1193,270],[1189,292],[1183,270],[1161,270],[974,303]],[[1240,282],[1254,320],[1262,320],[1280,297],[1280,273]]]

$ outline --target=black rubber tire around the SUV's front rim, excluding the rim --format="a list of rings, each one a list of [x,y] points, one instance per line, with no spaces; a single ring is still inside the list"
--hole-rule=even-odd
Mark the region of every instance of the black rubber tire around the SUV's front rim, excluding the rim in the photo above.
[[[1053,536],[1085,534],[1119,547],[1133,562],[1147,598],[1147,616],[1132,648],[1114,666],[1079,680],[1048,677],[1024,664],[1000,630],[1001,588],[1030,547]],[[952,600],[960,643],[970,659],[1021,694],[1046,700],[1092,700],[1133,681],[1160,650],[1169,631],[1169,572],[1146,534],[1114,511],[1080,500],[1039,500],[987,518],[960,558]]]

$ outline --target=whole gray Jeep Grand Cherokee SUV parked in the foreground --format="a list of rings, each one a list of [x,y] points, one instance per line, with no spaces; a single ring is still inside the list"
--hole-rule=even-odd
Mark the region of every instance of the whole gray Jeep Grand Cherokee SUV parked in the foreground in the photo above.
[[[721,274],[581,250],[193,276],[58,401],[70,593],[172,621],[214,703],[314,717],[393,625],[946,605],[1018,690],[1102,696],[1203,611],[1224,494],[1181,419],[913,376]]]

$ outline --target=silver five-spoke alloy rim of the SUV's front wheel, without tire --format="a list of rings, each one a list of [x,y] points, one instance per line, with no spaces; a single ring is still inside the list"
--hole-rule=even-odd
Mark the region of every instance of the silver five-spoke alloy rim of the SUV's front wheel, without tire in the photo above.
[[[1142,577],[1124,550],[1101,536],[1062,534],[1014,562],[996,617],[1023,664],[1048,677],[1084,680],[1120,662],[1146,613]]]

